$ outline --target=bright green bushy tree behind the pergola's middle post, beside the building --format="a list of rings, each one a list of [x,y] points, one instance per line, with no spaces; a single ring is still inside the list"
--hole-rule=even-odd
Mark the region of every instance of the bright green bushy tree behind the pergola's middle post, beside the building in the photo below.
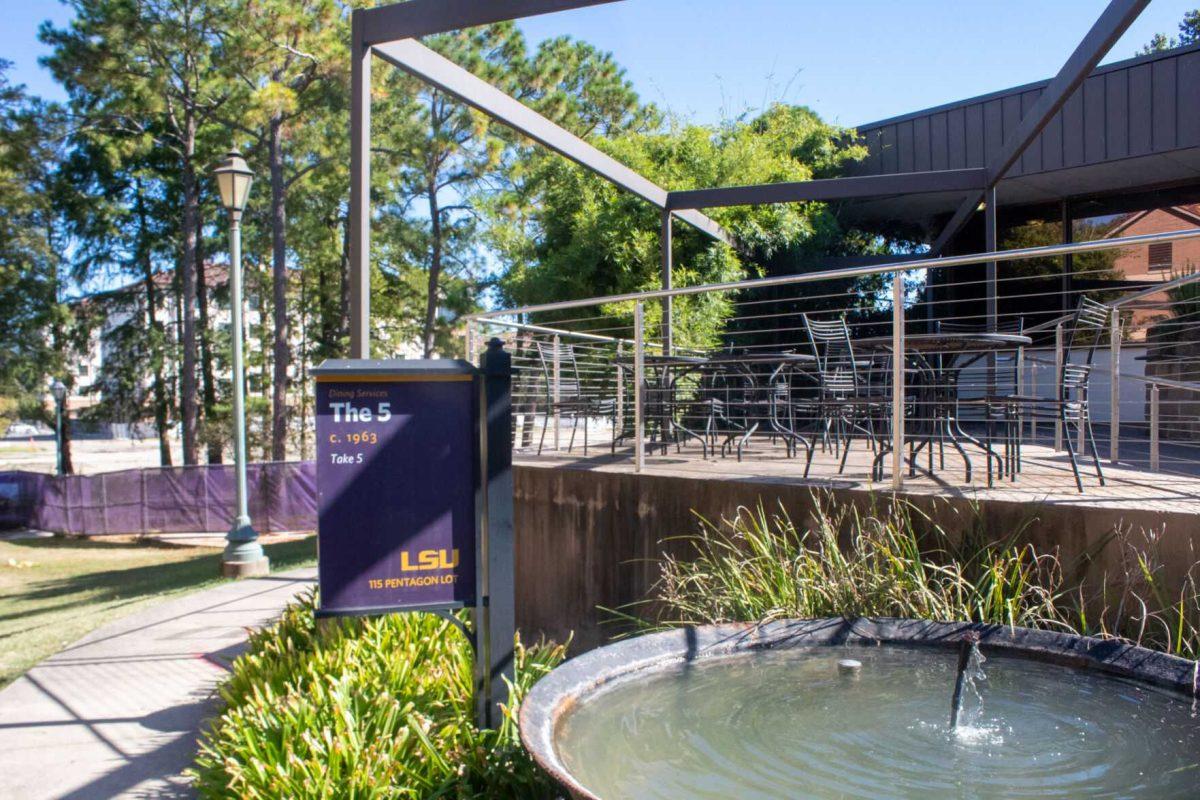
[[[773,106],[719,128],[672,125],[635,131],[596,144],[614,158],[672,190],[824,178],[862,148],[814,112]],[[658,288],[660,212],[558,157],[535,160],[522,180],[492,205],[493,241],[506,259],[499,282],[516,305]],[[715,209],[710,213],[736,246],[676,223],[674,283],[689,285],[757,275],[764,259],[805,246],[823,247],[841,234],[820,203]],[[628,323],[629,308],[606,314]],[[728,299],[700,295],[676,303],[676,338],[709,347],[731,314]],[[648,324],[658,308],[647,307]]]

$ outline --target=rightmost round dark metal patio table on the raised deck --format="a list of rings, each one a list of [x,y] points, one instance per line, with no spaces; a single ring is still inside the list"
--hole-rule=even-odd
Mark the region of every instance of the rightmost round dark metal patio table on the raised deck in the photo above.
[[[984,444],[965,432],[959,423],[959,374],[962,369],[976,361],[976,359],[960,359],[964,354],[978,355],[1013,350],[1028,347],[1033,343],[1028,336],[1020,333],[991,333],[991,332],[955,332],[955,333],[912,333],[905,336],[905,354],[917,367],[917,409],[926,409],[928,416],[918,417],[918,422],[925,426],[918,428],[912,437],[913,444],[908,458],[910,474],[916,474],[917,453],[924,447],[929,447],[929,471],[932,474],[934,456],[932,447],[936,440],[938,447],[946,441],[959,451],[966,469],[966,481],[971,482],[972,463],[962,443],[970,443],[979,447],[988,463],[988,483],[991,485],[991,463],[995,458],[998,463],[998,473],[1003,475],[1004,462],[991,449],[990,443]],[[868,336],[853,339],[856,349],[888,351],[893,349],[890,336]],[[884,441],[875,459],[874,471],[882,471],[883,457],[890,452],[889,443]],[[944,462],[943,462],[944,463]]]

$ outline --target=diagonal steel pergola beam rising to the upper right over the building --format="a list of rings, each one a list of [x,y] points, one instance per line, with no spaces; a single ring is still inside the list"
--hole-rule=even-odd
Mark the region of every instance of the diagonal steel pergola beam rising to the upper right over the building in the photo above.
[[[1111,0],[1099,16],[1084,40],[1062,65],[1058,74],[1042,90],[1033,107],[1021,116],[1018,126],[1004,137],[1000,152],[988,162],[988,185],[978,192],[972,192],[955,210],[954,216],[942,229],[942,233],[930,247],[932,254],[940,254],[950,239],[967,223],[988,190],[1008,174],[1016,160],[1038,138],[1043,128],[1054,119],[1084,80],[1092,73],[1100,59],[1108,54],[1117,40],[1129,29],[1129,25],[1145,11],[1150,0]]]

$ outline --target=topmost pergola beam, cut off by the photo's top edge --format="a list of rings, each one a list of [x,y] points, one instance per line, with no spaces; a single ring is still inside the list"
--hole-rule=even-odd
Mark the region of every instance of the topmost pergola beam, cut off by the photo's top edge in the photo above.
[[[362,41],[383,44],[610,2],[617,0],[409,0],[362,10]]]

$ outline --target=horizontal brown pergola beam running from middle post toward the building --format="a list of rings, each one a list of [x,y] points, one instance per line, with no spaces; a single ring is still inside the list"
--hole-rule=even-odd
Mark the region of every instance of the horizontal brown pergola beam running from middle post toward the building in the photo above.
[[[929,192],[983,191],[988,186],[988,170],[942,169],[895,175],[864,175],[860,178],[829,178],[757,186],[722,186],[688,190],[667,194],[667,209],[715,209],[730,205],[760,205],[769,203],[805,203],[850,200],[894,194],[924,194]]]

